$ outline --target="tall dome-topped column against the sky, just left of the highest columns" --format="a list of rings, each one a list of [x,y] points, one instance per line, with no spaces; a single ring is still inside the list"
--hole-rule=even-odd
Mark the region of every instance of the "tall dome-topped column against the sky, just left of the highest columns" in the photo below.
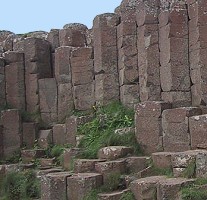
[[[119,100],[117,25],[119,16],[102,14],[93,21],[96,104]]]

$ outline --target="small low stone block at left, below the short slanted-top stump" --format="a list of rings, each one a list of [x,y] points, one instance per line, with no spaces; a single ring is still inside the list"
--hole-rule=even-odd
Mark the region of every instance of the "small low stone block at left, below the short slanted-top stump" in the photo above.
[[[23,163],[32,163],[35,161],[35,159],[43,158],[44,156],[44,149],[21,150],[21,158]]]

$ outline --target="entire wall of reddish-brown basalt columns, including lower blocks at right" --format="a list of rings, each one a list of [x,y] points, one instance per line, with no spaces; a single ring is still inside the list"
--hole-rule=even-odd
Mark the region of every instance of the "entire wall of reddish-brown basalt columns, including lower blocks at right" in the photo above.
[[[118,100],[141,102],[136,134],[147,153],[196,148],[202,141],[194,140],[195,127],[205,123],[197,115],[206,114],[207,103],[206,11],[204,0],[123,0],[115,13],[96,16],[92,29],[74,23],[49,33],[1,31],[0,107],[39,118],[22,126],[17,111],[2,112],[2,138],[10,130],[5,117],[14,115],[15,147],[33,144],[26,134],[37,121],[70,141],[73,110]]]

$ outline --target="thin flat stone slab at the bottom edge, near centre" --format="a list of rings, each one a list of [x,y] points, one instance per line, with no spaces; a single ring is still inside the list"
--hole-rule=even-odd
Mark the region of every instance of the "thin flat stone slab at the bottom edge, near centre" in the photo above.
[[[98,200],[120,200],[121,196],[129,191],[130,191],[129,189],[125,189],[122,191],[114,191],[110,193],[99,193]]]

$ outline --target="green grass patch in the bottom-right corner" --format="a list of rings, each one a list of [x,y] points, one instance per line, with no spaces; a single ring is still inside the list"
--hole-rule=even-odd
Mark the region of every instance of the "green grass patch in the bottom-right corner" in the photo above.
[[[207,199],[207,179],[198,178],[187,187],[181,190],[183,200],[206,200]]]

